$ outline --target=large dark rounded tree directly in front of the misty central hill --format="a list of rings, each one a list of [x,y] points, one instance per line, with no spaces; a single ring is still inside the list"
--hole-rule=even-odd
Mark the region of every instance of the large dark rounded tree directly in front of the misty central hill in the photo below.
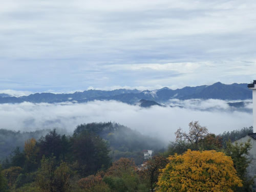
[[[88,132],[74,134],[72,138],[73,154],[81,166],[81,174],[95,174],[106,169],[111,163],[109,145],[102,138]]]

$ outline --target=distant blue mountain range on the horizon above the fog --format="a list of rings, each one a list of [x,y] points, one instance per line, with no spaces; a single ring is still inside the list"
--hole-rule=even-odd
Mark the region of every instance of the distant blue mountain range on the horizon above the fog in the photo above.
[[[11,97],[8,94],[0,94],[0,103],[21,102],[88,102],[93,100],[117,100],[129,104],[139,102],[141,99],[165,102],[169,99],[221,99],[221,100],[245,100],[252,99],[252,92],[246,83],[223,84],[217,82],[211,86],[184,87],[172,90],[164,87],[154,91],[139,91],[118,89],[113,91],[88,90],[72,94],[35,93],[29,96]]]

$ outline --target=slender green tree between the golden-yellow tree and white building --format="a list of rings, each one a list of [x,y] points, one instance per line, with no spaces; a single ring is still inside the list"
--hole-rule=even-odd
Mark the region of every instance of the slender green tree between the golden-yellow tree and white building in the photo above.
[[[248,159],[249,151],[251,150],[251,140],[247,142],[238,143],[237,141],[232,143],[230,140],[226,142],[227,147],[224,153],[230,156],[234,163],[234,168],[237,170],[238,176],[242,179],[243,187],[237,188],[237,191],[249,191],[253,179],[247,177],[247,168],[250,164]]]

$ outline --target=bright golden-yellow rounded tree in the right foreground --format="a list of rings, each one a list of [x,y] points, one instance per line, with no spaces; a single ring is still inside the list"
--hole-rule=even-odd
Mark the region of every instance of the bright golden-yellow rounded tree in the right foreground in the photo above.
[[[243,186],[231,157],[222,152],[191,151],[168,157],[157,191],[233,191]]]

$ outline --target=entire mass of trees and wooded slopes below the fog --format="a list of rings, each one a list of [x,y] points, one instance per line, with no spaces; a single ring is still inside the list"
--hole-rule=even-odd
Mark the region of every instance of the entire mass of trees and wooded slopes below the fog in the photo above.
[[[72,135],[52,130],[26,138],[0,165],[0,191],[248,191],[250,142],[227,142],[224,149],[206,127],[189,127],[189,133],[176,132],[180,137],[165,152],[161,141],[112,122],[80,124]],[[143,162],[149,148],[155,154]]]

